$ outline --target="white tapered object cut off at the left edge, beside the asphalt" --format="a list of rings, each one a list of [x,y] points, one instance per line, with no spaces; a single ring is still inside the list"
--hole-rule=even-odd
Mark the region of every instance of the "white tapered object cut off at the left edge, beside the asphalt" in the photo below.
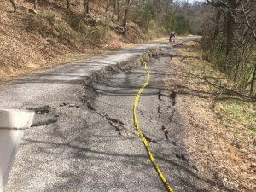
[[[3,192],[25,129],[32,125],[35,112],[0,108],[0,192]]]

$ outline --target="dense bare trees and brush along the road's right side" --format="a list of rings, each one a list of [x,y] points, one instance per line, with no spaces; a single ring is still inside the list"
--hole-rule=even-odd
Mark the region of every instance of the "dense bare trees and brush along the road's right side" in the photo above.
[[[204,58],[243,93],[255,95],[256,2],[207,0],[202,27]]]

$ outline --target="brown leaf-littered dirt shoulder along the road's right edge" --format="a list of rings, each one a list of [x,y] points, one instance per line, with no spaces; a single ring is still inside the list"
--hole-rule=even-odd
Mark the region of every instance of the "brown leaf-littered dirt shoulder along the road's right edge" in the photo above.
[[[250,115],[244,115],[250,117],[247,124],[236,120],[237,115],[228,116],[224,107],[216,109],[221,96],[231,98],[232,104],[232,98],[238,98],[212,86],[219,81],[229,84],[228,80],[202,61],[198,42],[186,43],[178,50],[179,56],[171,57],[172,76],[166,78],[166,84],[176,93],[177,111],[189,127],[185,143],[196,169],[209,184],[210,191],[255,191],[256,131],[249,128],[255,123],[255,102],[239,98],[249,108],[243,109],[243,113],[250,111]],[[224,100],[222,105],[226,103]],[[227,125],[227,119],[231,125]]]

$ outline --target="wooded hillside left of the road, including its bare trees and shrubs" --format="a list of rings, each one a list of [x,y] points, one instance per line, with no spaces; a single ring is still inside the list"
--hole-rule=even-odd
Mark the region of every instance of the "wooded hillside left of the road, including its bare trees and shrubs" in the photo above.
[[[171,30],[189,33],[188,20],[173,6],[172,0],[3,1],[0,73],[167,37]]]

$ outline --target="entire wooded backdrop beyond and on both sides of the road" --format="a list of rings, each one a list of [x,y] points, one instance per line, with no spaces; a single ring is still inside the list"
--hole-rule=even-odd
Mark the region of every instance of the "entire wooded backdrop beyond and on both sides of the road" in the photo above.
[[[8,0],[0,9],[2,73],[167,38],[173,31],[201,34],[204,59],[236,91],[256,93],[255,1]]]

